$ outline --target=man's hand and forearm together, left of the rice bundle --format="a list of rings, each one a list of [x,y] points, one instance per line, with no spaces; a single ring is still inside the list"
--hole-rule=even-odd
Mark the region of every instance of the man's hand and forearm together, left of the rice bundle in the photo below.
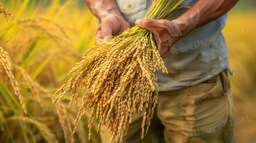
[[[93,14],[101,21],[97,31],[95,43],[112,39],[120,35],[130,24],[123,18],[115,0],[84,0]]]

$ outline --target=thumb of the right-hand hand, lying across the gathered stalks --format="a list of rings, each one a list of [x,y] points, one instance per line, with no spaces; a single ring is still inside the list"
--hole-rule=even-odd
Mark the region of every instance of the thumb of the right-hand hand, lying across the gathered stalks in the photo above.
[[[140,28],[144,28],[153,32],[157,25],[157,20],[151,18],[137,19],[135,24]]]

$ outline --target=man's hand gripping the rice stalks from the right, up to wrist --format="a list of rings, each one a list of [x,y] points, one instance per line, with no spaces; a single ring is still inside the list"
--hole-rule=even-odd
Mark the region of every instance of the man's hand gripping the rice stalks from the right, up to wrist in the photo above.
[[[138,27],[148,29],[154,34],[157,49],[162,58],[165,57],[170,48],[184,36],[179,22],[175,20],[169,21],[144,18],[137,19],[135,24]]]

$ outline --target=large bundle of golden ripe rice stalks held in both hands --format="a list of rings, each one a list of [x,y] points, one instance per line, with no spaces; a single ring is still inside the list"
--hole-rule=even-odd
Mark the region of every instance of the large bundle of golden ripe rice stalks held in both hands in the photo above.
[[[167,19],[183,0],[155,0],[145,18]],[[66,92],[72,90],[72,103],[77,104],[79,86],[86,86],[82,98],[82,107],[74,122],[74,132],[78,122],[85,114],[86,108],[92,108],[89,119],[89,140],[95,119],[99,127],[111,130],[110,142],[122,142],[134,115],[143,116],[141,128],[148,130],[150,120],[158,99],[156,70],[168,71],[157,50],[153,34],[139,27],[129,28],[111,40],[97,44],[89,49],[80,63],[70,70],[68,76],[75,72],[56,93],[53,104],[60,102]],[[155,91],[154,97],[152,93]],[[144,129],[144,127],[146,129]]]

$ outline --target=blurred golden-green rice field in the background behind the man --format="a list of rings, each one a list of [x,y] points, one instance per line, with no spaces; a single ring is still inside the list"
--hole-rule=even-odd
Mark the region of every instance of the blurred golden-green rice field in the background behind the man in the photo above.
[[[65,96],[60,104],[52,105],[54,92],[69,79],[67,74],[74,63],[95,45],[96,17],[78,0],[0,2],[24,27],[18,27],[8,15],[6,22],[0,13],[0,46],[8,53],[11,71],[28,111],[26,117],[0,64],[0,141],[23,143],[33,142],[34,138],[40,143],[99,143],[96,130],[88,141],[86,119],[90,112],[83,116],[75,135],[72,134],[80,102],[67,109],[71,97]],[[256,140],[255,7],[256,2],[239,1],[229,11],[223,29],[229,46],[230,68],[235,71],[230,76],[235,118],[248,117],[246,122],[234,126],[238,143]],[[83,95],[85,89],[79,92]]]

